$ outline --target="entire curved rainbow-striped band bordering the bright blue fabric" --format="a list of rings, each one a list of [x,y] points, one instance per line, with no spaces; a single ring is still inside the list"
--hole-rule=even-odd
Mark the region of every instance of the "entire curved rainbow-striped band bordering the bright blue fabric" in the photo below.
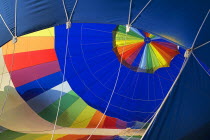
[[[63,84],[57,124],[71,128],[94,128],[103,114],[88,106],[72,91],[67,81],[62,83],[63,74],[54,50],[54,37],[54,28],[49,28],[19,37],[15,50],[12,42],[2,47],[12,82],[29,106],[52,123]],[[138,122],[127,123],[105,116],[99,128],[124,129],[135,125]]]

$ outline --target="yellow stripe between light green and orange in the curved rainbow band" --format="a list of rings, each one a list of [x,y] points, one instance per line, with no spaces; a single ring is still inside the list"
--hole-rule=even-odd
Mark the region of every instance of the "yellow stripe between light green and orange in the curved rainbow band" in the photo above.
[[[94,113],[96,112],[95,109],[87,106],[81,114],[77,117],[77,119],[71,125],[72,128],[86,128],[91,121]]]

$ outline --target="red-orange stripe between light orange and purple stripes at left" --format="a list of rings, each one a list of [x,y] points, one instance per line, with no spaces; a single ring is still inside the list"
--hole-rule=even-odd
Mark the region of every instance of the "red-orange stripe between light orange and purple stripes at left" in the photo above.
[[[14,56],[9,54],[4,56],[8,71],[11,71],[12,57],[14,57],[12,71],[57,60],[54,49],[16,53]]]

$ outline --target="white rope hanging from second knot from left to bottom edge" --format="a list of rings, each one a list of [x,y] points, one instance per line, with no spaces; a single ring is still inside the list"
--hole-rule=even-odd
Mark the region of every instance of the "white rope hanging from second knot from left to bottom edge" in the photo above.
[[[68,44],[69,44],[69,29],[67,29],[67,37],[66,37],[66,50],[65,50],[65,60],[64,60],[64,72],[63,72],[63,80],[62,80],[62,86],[61,86],[61,92],[60,92],[60,98],[59,98],[59,102],[58,102],[58,109],[57,109],[57,113],[56,113],[56,118],[55,118],[55,123],[54,123],[54,127],[53,127],[53,131],[52,131],[52,137],[51,140],[53,140],[54,138],[54,134],[55,134],[55,129],[56,129],[56,125],[57,125],[57,121],[58,121],[58,115],[59,115],[59,111],[60,111],[60,106],[61,106],[61,100],[62,100],[62,93],[63,93],[63,83],[65,81],[65,75],[66,75],[66,62],[67,62],[67,54],[68,54]]]

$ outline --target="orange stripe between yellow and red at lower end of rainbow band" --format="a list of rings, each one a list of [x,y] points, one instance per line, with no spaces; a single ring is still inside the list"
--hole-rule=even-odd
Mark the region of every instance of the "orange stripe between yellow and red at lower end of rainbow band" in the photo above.
[[[89,122],[89,124],[86,128],[95,128],[97,126],[98,122],[100,121],[102,115],[103,114],[101,112],[96,111],[96,113],[94,114],[94,116],[92,117],[91,121]],[[101,124],[98,126],[98,128],[103,127],[105,118],[106,117],[103,118],[103,120],[101,121]]]

